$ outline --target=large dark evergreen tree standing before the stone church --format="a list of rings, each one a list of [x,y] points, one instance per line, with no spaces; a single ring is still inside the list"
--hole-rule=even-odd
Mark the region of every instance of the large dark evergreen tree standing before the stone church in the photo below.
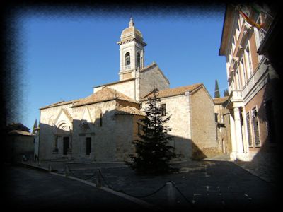
[[[139,134],[139,140],[133,141],[136,155],[129,155],[132,163],[127,163],[139,173],[163,174],[178,170],[169,165],[171,159],[180,156],[175,153],[173,146],[168,145],[168,141],[173,136],[168,135],[171,128],[164,124],[171,116],[163,116],[163,110],[159,104],[160,99],[156,98],[156,92],[156,89],[153,90],[154,97],[149,98],[149,102],[146,103],[148,105],[144,109],[146,117],[139,120],[141,134]]]

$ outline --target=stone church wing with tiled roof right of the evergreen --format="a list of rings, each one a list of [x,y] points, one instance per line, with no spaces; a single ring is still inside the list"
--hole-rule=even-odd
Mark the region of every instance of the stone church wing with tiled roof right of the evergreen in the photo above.
[[[140,100],[146,107],[149,93]],[[209,158],[219,154],[216,141],[214,102],[202,83],[178,88],[159,90],[156,98],[161,100],[165,115],[171,115],[167,123],[172,128],[174,146],[185,160]]]

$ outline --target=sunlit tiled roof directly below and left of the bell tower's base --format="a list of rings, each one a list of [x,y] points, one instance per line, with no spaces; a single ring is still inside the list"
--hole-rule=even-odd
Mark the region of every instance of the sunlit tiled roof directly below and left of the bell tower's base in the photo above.
[[[98,90],[96,93],[93,93],[88,97],[79,100],[79,102],[75,102],[74,105],[72,105],[72,107],[90,105],[93,103],[105,102],[110,100],[125,100],[127,102],[134,102],[139,104],[139,102],[133,100],[132,98],[129,98],[127,95],[124,95],[112,88],[105,87],[102,88],[101,90]]]

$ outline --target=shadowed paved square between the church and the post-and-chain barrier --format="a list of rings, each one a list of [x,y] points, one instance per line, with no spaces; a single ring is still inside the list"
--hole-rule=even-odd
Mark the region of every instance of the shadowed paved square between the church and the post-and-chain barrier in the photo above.
[[[252,175],[225,158],[175,163],[172,166],[180,167],[180,172],[162,176],[137,175],[124,163],[67,164],[45,161],[40,164],[45,168],[48,165],[62,174],[68,165],[70,176],[94,183],[96,170],[100,169],[104,187],[131,196],[144,196],[139,199],[161,208],[172,206],[168,201],[168,187],[163,187],[168,181],[175,183],[173,207],[176,208],[262,208],[278,203],[278,188],[274,183]]]

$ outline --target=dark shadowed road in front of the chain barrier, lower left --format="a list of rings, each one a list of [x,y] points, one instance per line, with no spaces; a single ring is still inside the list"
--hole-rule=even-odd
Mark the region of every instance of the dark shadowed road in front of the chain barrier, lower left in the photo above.
[[[3,176],[3,175],[2,175]],[[24,167],[6,167],[4,186],[1,190],[2,207],[21,210],[66,210],[103,209],[125,211],[131,208],[141,211],[145,208],[122,196],[110,194],[79,181],[50,175],[48,172]]]

